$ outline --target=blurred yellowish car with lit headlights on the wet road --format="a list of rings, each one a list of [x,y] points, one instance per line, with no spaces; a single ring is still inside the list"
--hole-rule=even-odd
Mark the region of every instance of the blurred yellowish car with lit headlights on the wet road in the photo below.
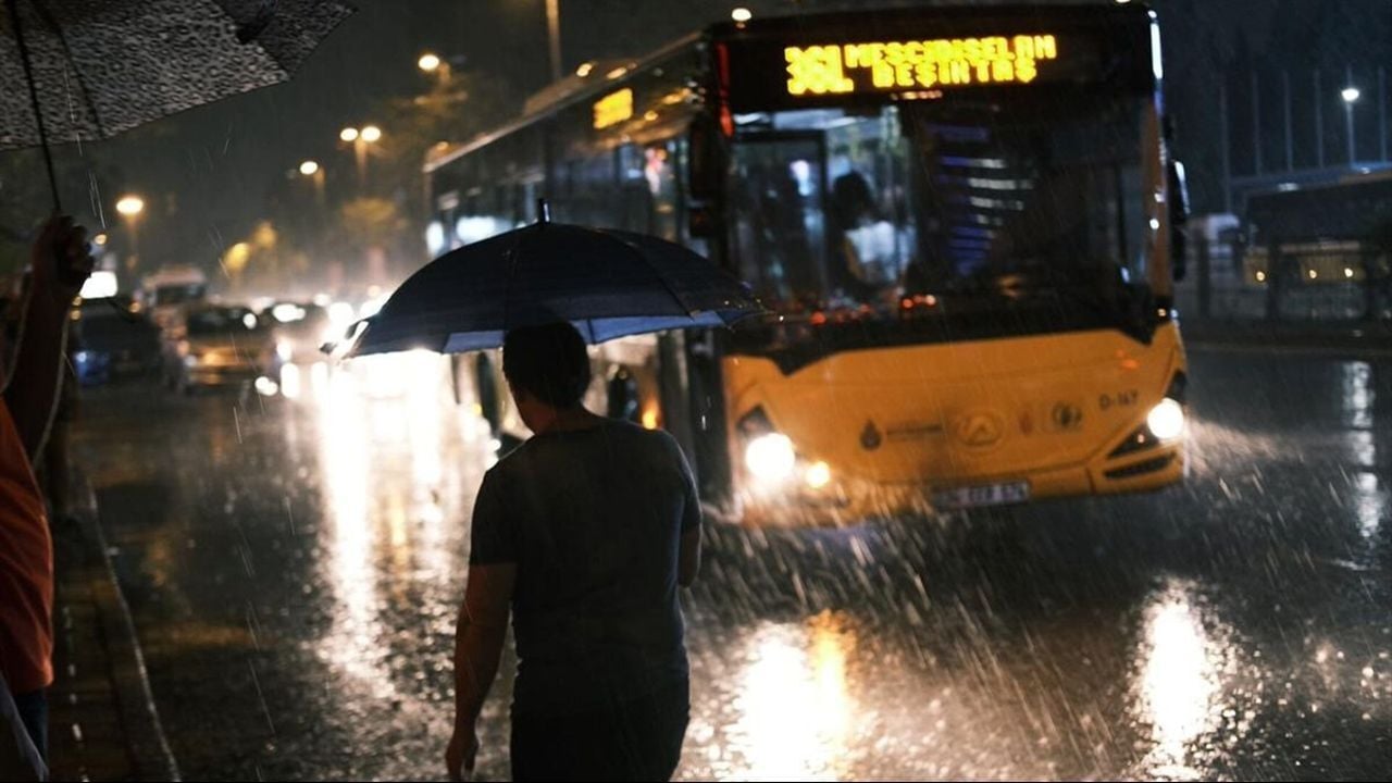
[[[184,393],[249,386],[274,365],[273,336],[251,308],[187,307],[164,332],[164,383]]]

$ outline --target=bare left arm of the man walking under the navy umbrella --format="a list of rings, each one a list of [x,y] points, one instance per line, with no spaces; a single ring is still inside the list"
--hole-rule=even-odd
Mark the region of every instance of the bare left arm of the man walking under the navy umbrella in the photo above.
[[[462,779],[479,752],[476,724],[498,676],[508,634],[516,564],[469,566],[469,582],[454,634],[454,737],[445,750],[450,777]]]

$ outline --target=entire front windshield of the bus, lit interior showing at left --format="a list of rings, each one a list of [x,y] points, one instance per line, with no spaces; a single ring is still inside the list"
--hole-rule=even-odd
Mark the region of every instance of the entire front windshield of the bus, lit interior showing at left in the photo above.
[[[1009,98],[741,116],[743,279],[782,313],[1139,287],[1140,100]]]

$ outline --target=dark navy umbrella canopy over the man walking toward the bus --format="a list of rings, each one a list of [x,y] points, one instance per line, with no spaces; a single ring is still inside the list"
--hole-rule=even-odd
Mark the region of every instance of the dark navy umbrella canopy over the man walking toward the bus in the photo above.
[[[496,348],[508,329],[554,320],[603,343],[760,312],[748,286],[682,245],[541,220],[426,265],[365,320],[347,355]]]

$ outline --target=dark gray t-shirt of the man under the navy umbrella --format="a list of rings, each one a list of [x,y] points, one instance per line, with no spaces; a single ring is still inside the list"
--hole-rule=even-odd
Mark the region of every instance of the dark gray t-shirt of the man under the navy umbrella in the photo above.
[[[600,709],[688,676],[677,571],[699,525],[677,442],[628,422],[535,436],[484,475],[469,563],[516,564],[514,712]]]

